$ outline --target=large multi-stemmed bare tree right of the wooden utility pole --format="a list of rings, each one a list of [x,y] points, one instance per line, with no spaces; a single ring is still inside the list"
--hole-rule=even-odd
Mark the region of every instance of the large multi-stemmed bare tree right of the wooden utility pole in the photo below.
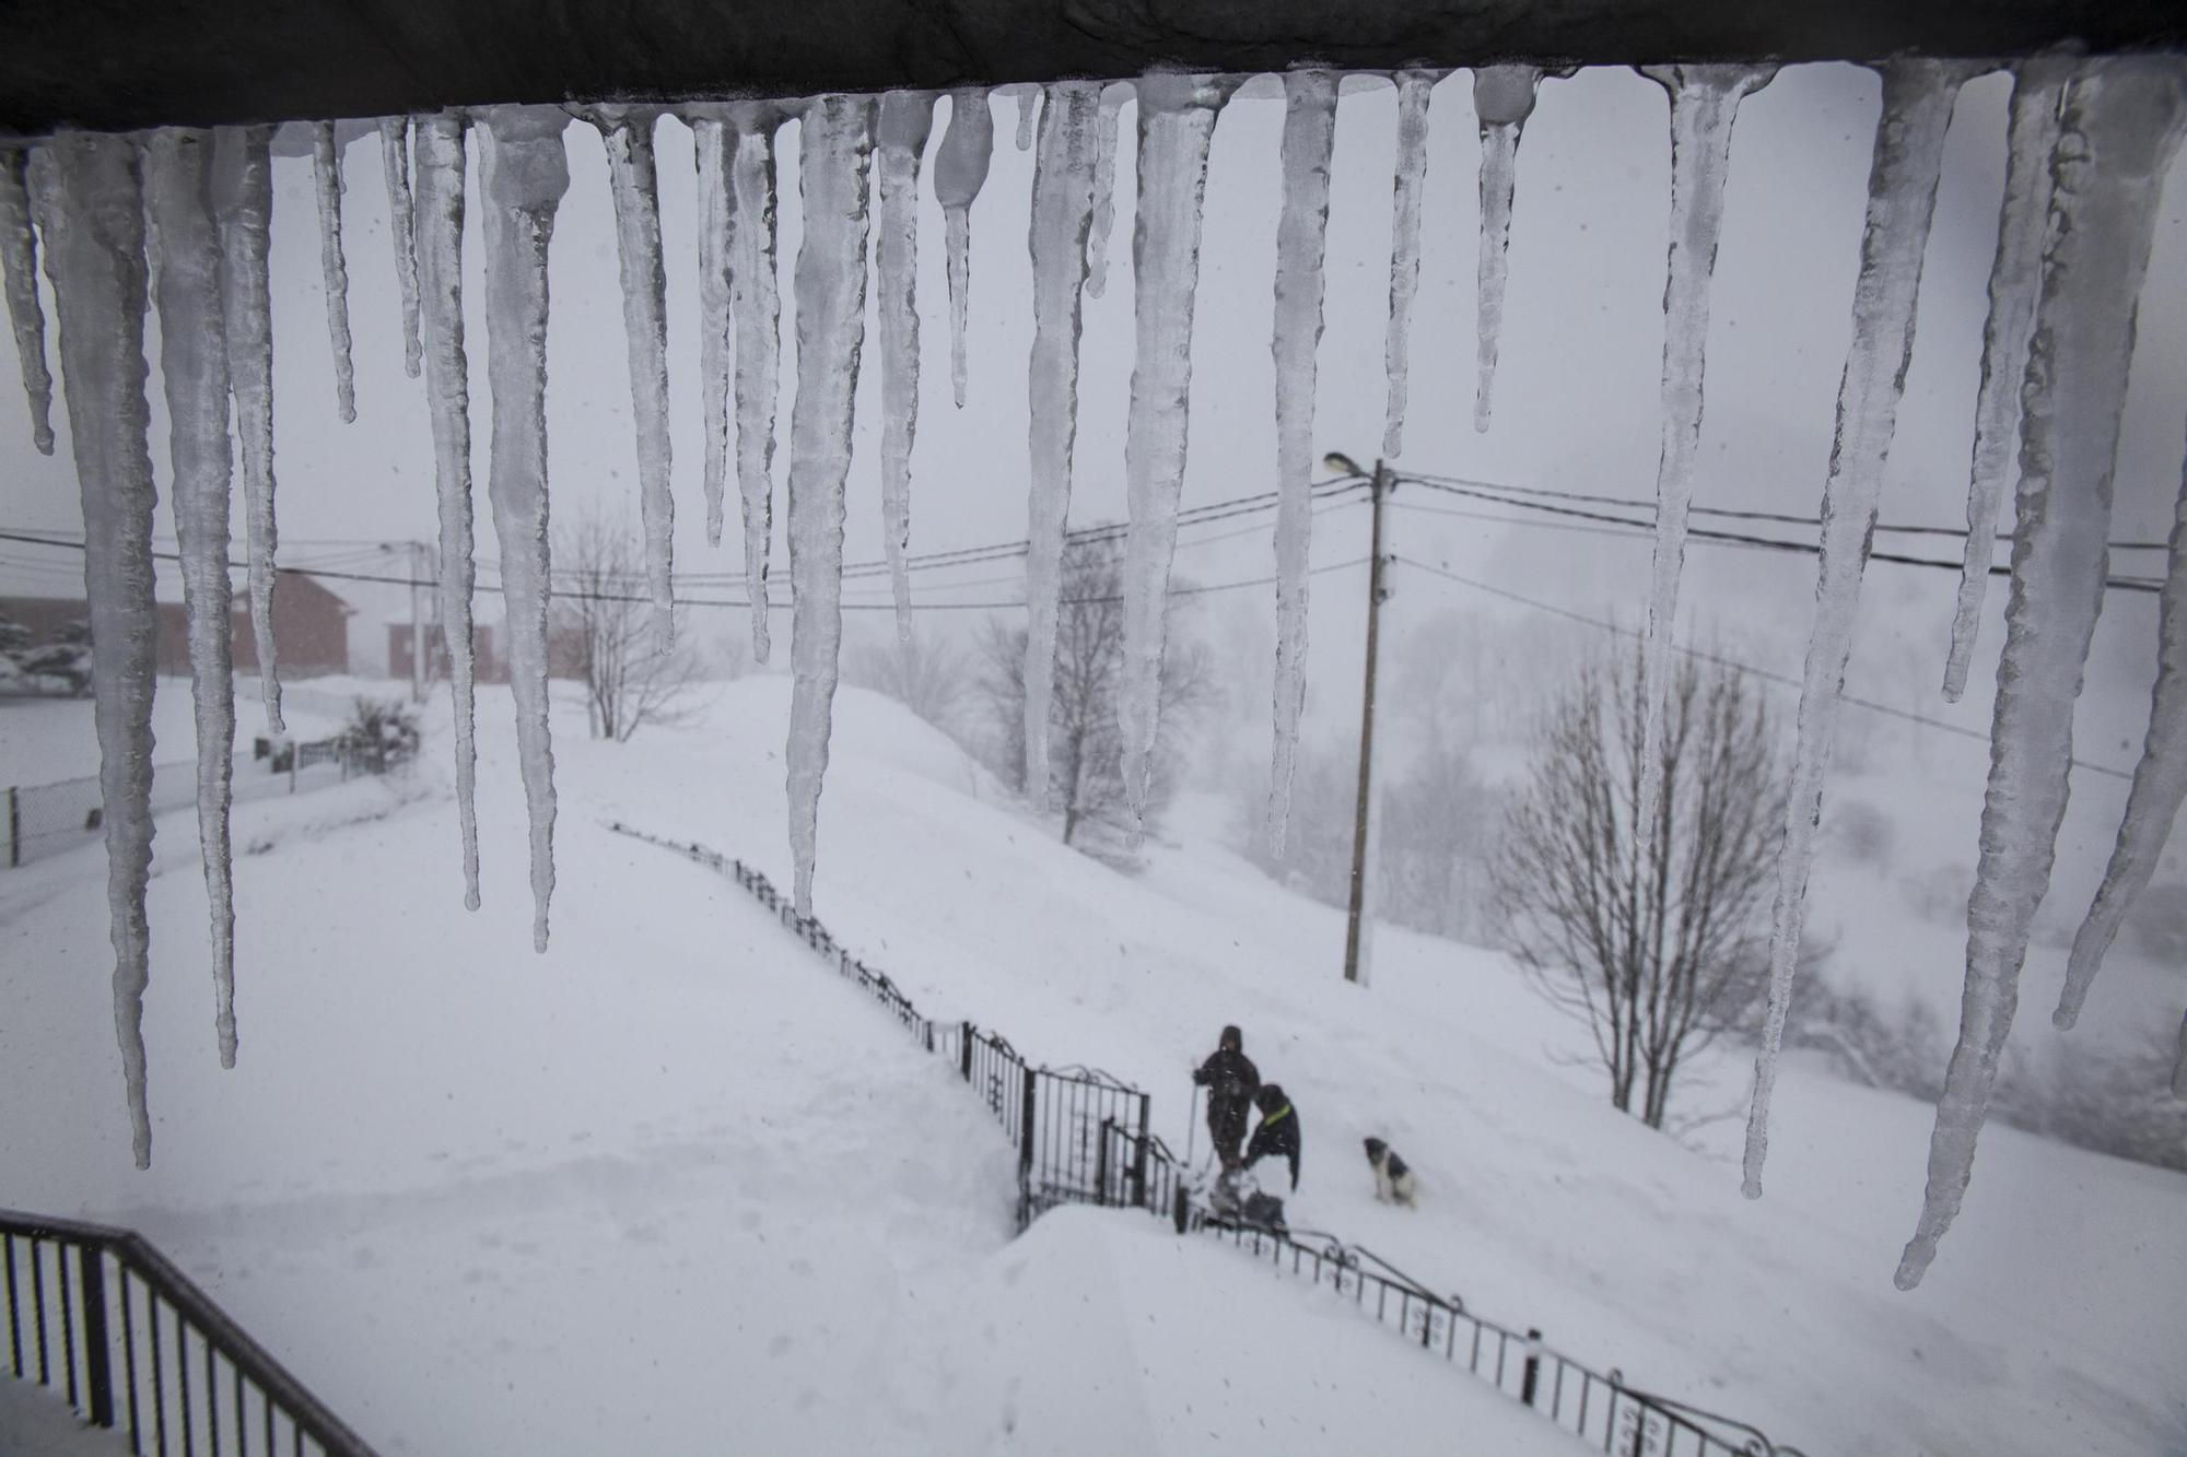
[[[1638,678],[1599,658],[1555,700],[1494,886],[1533,987],[1594,1035],[1610,1100],[1660,1129],[1680,1065],[1765,984],[1785,774],[1747,676],[1684,658],[1660,809],[1636,831]]]

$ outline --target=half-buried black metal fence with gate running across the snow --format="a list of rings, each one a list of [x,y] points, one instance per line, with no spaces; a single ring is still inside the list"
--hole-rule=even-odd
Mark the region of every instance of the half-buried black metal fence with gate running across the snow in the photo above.
[[[1153,1098],[1098,1068],[1034,1068],[999,1033],[971,1022],[936,1024],[881,971],[868,967],[811,917],[798,917],[765,875],[698,842],[676,842],[608,825],[647,844],[728,875],[805,945],[835,963],[910,1028],[929,1052],[951,1059],[1002,1129],[1017,1142],[1019,1227],[1059,1203],[1135,1208],[1170,1219],[1179,1234],[1207,1232],[1349,1297],[1406,1341],[1463,1365],[1505,1396],[1612,1457],[1800,1457],[1745,1422],[1625,1385],[1542,1341],[1483,1319],[1459,1295],[1430,1291],[1360,1245],[1306,1229],[1271,1229],[1220,1219],[1192,1197],[1192,1170],[1153,1133]]]

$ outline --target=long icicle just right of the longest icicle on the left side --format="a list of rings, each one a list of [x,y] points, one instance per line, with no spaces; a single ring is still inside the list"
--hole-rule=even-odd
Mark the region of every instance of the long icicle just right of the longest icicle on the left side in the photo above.
[[[197,844],[212,908],[212,1024],[221,1068],[236,1065],[236,904],[227,803],[236,753],[230,641],[227,348],[221,339],[221,228],[212,219],[212,133],[162,129],[144,149],[147,217],[160,263],[160,376],[175,464],[175,540],[197,718]]]

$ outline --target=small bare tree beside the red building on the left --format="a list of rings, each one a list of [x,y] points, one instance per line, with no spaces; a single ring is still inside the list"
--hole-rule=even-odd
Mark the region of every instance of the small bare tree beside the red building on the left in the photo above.
[[[654,630],[645,562],[636,534],[617,516],[580,514],[555,532],[555,643],[584,678],[595,739],[630,742],[645,724],[674,724],[691,711],[698,654],[685,641],[682,613],[671,648]]]

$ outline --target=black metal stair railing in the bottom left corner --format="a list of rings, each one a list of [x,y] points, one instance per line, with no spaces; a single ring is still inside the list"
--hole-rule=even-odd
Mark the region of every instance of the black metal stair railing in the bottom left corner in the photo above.
[[[372,1457],[258,1341],[129,1229],[0,1210],[17,1380],[140,1457]]]

